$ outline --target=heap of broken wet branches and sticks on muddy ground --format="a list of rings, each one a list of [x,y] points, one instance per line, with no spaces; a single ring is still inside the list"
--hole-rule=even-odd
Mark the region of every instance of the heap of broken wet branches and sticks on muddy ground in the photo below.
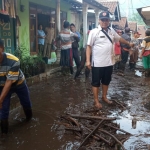
[[[74,133],[81,140],[77,150],[80,150],[83,146],[87,148],[92,146],[95,149],[95,145],[96,147],[102,145],[107,149],[113,149],[116,145],[120,145],[122,150],[125,150],[121,141],[126,140],[131,135],[113,122],[117,119],[116,117],[67,114],[60,118],[62,123],[59,124],[64,125],[66,132]],[[117,133],[117,131],[121,131],[122,134]]]

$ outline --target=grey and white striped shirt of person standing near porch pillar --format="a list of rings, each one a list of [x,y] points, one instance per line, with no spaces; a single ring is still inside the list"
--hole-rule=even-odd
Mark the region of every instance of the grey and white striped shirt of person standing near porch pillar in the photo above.
[[[72,48],[72,42],[74,41],[75,33],[71,32],[68,29],[64,29],[59,33],[58,39],[61,41],[61,49],[70,49]]]

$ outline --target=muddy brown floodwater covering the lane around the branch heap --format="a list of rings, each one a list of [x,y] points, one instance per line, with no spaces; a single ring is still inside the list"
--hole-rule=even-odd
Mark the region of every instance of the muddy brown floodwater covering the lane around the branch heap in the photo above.
[[[142,69],[139,70],[142,73]],[[58,130],[58,117],[78,113],[93,106],[90,79],[84,75],[73,80],[72,76],[55,77],[30,87],[33,119],[22,121],[24,114],[19,107],[10,113],[8,137],[0,150],[74,150],[79,145],[74,135]],[[120,128],[132,134],[125,141],[127,150],[150,149],[150,79],[135,75],[127,69],[125,77],[113,74],[108,97],[126,104],[126,110],[103,104],[102,111],[116,116]],[[16,99],[17,97],[15,97]],[[101,98],[101,94],[100,94]],[[113,149],[110,149],[113,150]]]

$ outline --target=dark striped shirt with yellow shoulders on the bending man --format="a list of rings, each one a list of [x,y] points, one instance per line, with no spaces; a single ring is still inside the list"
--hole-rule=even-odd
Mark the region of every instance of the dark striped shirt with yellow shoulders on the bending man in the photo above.
[[[12,86],[21,85],[25,80],[24,74],[20,70],[19,59],[9,53],[3,53],[0,65],[0,87],[5,85],[6,80],[12,80]]]

